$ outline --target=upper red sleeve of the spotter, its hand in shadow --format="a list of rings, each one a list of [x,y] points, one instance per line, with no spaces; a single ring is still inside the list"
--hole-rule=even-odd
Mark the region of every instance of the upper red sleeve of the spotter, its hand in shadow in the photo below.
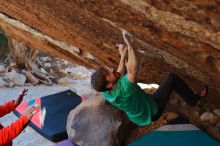
[[[10,113],[15,109],[14,100],[9,101],[3,105],[0,106],[0,117]]]

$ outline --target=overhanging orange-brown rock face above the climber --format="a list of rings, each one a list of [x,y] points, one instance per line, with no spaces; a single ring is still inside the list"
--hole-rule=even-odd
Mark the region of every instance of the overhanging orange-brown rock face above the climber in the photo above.
[[[218,0],[1,0],[0,13],[8,37],[93,68],[117,67],[125,29],[139,52],[140,81],[176,72],[194,89],[209,85],[208,99],[220,104]]]

